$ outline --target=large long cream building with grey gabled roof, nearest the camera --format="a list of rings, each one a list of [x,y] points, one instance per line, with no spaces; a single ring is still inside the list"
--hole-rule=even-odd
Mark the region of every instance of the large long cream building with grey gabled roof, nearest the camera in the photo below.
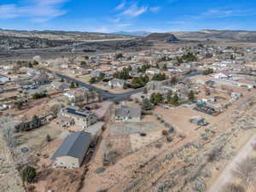
[[[61,146],[50,158],[54,167],[78,168],[90,148],[91,135],[88,132],[77,131],[68,135]]]

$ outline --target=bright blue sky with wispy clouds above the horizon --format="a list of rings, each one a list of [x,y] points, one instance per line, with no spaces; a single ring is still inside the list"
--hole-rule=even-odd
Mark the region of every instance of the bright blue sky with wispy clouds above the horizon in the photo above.
[[[81,32],[256,31],[256,0],[0,0],[0,28]]]

